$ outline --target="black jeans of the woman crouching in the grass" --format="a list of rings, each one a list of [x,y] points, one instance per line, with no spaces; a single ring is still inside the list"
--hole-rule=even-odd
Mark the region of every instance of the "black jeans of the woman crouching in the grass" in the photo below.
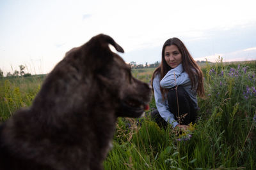
[[[173,113],[175,120],[177,120],[180,125],[188,125],[191,122],[193,124],[195,123],[198,107],[195,106],[196,104],[182,86],[177,87],[177,92],[175,88],[170,89],[168,91],[167,100],[170,112]],[[167,127],[167,122],[161,117],[157,110],[151,112],[151,117],[160,127]]]

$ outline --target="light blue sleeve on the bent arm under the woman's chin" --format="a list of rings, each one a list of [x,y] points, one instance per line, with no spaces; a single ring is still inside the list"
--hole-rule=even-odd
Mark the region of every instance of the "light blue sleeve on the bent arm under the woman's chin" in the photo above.
[[[190,82],[188,73],[183,72],[182,64],[179,64],[179,66],[166,73],[164,78],[160,81],[160,85],[164,89],[170,89],[176,85],[186,85]]]

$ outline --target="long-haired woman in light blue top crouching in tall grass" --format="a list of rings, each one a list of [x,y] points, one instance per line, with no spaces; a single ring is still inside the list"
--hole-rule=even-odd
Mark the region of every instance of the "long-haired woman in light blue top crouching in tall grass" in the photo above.
[[[188,49],[178,38],[165,41],[162,61],[152,76],[157,110],[152,118],[158,125],[188,129],[198,110],[196,94],[204,97],[203,74]]]

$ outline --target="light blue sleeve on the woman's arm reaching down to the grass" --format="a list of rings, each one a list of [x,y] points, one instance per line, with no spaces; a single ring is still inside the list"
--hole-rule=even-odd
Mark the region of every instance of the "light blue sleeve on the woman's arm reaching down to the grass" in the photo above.
[[[156,107],[161,117],[174,128],[178,125],[178,122],[174,119],[173,113],[169,111],[168,104],[163,101],[163,97],[160,90],[159,74],[153,80],[154,96],[156,100]]]

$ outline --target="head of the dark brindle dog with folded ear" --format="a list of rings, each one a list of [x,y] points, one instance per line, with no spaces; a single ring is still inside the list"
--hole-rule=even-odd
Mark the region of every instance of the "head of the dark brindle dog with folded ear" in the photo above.
[[[105,89],[100,89],[102,93],[111,96],[111,101],[106,103],[112,102],[117,117],[140,117],[148,108],[151,88],[132,76],[131,67],[112,52],[109,45],[113,45],[118,52],[124,52],[110,36],[99,34],[83,46],[70,50],[66,56],[83,53],[84,70],[93,74],[93,81]]]

